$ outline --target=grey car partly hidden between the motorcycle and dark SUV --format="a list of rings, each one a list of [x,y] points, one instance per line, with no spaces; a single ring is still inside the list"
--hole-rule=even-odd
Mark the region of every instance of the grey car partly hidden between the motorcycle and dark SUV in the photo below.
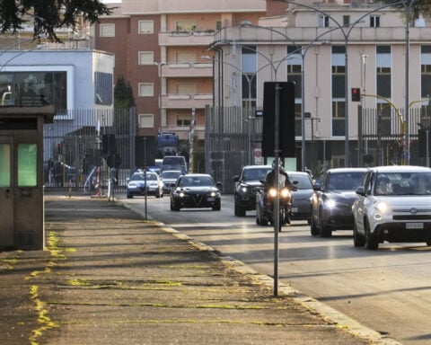
[[[291,191],[291,219],[312,222],[312,178],[309,173],[287,172],[289,180],[295,183],[296,190]]]

